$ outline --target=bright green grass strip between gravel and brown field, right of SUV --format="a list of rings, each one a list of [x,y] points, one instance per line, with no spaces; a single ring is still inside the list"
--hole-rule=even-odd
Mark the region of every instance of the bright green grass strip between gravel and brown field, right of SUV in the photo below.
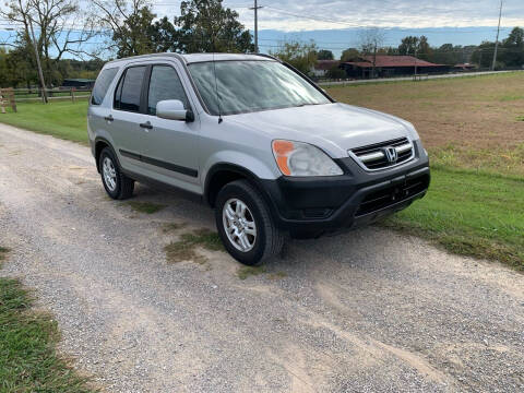
[[[428,194],[384,225],[524,270],[524,179],[437,166]]]

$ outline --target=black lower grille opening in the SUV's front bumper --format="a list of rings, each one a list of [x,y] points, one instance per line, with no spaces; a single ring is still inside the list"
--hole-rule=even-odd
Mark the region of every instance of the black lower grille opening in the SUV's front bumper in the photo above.
[[[429,175],[407,179],[403,183],[371,192],[362,200],[355,214],[357,217],[380,211],[425,191],[429,187]]]

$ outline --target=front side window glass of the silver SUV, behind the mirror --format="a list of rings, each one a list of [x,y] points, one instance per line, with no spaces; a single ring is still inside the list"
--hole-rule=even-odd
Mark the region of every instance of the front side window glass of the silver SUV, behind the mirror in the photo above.
[[[164,99],[179,99],[189,109],[188,98],[177,71],[169,66],[155,66],[151,71],[147,112],[156,115],[156,104]]]

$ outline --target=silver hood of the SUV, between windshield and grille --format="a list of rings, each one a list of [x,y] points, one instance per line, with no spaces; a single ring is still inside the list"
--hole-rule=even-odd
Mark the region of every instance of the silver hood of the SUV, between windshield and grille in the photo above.
[[[418,139],[405,120],[338,103],[230,115],[227,120],[271,139],[314,144],[333,158],[347,157],[349,148],[396,138]]]

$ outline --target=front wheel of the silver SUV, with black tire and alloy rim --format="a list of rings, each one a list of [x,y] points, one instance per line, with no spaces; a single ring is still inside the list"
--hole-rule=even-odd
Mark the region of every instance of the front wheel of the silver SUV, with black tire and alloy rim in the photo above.
[[[237,209],[242,210],[242,203],[247,207],[243,218],[240,213],[234,215],[235,219],[229,219],[231,211],[238,213]],[[236,180],[227,183],[218,192],[215,205],[216,227],[222,242],[237,261],[254,266],[281,252],[284,236],[275,226],[267,203],[250,182]],[[228,206],[231,209],[227,210]],[[255,236],[248,234],[248,231],[253,231],[251,223],[254,223]],[[242,233],[247,242],[242,242],[240,237],[236,236]],[[240,249],[242,247],[245,250]]]

